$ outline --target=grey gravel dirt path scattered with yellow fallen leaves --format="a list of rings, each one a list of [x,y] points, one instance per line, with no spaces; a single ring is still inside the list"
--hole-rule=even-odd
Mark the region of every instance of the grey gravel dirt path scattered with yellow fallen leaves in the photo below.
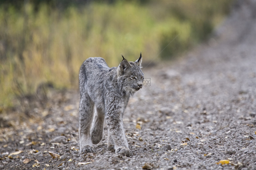
[[[107,151],[106,127],[95,152],[79,155],[79,95],[53,92],[26,115],[2,114],[0,169],[256,169],[254,2],[179,61],[144,67],[150,84],[124,115],[133,157]]]

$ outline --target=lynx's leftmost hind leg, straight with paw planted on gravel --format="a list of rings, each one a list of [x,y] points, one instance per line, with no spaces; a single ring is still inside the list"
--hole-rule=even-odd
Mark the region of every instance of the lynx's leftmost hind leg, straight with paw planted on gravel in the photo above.
[[[90,128],[93,120],[94,103],[87,93],[81,94],[79,104],[80,153],[93,152]]]

